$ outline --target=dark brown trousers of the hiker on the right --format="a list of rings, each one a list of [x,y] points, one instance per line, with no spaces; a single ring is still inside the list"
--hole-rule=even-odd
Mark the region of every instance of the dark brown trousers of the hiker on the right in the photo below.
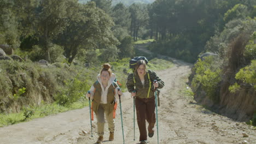
[[[146,120],[155,124],[155,97],[135,99],[137,123],[139,127],[139,141],[147,140]]]

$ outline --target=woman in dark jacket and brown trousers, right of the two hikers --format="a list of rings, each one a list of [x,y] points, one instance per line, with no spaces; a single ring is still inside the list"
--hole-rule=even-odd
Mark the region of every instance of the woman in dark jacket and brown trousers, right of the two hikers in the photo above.
[[[153,82],[156,80],[157,82]],[[165,83],[153,70],[147,70],[144,60],[136,63],[133,74],[127,77],[126,86],[132,97],[135,97],[139,141],[147,143],[146,120],[148,122],[148,136],[153,137],[155,119],[155,88],[164,87]]]

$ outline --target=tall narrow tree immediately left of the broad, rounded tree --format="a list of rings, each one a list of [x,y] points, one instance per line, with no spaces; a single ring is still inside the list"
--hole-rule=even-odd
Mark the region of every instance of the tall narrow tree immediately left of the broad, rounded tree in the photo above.
[[[75,0],[44,0],[40,1],[37,14],[37,33],[39,34],[39,45],[45,51],[45,59],[51,62],[50,45],[54,37],[63,31],[68,25],[67,15],[69,2]]]

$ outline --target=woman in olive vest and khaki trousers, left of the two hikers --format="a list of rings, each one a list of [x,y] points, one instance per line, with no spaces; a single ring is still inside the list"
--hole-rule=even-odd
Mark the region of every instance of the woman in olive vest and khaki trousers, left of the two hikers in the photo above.
[[[96,114],[97,118],[97,133],[98,140],[97,143],[103,141],[104,135],[104,115],[106,116],[108,122],[109,130],[109,141],[114,140],[114,119],[113,111],[114,105],[116,103],[115,98],[119,95],[122,95],[121,91],[118,91],[118,85],[114,82],[115,74],[112,73],[108,63],[103,64],[101,73],[97,76],[97,81],[90,88],[90,93],[86,94],[87,98],[92,100],[92,110]]]

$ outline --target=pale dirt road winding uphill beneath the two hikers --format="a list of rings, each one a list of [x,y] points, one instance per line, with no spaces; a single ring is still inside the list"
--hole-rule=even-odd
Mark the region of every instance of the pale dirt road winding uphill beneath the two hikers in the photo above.
[[[191,65],[181,61],[174,63],[171,69],[156,71],[165,82],[165,87],[161,89],[161,106],[158,107],[159,143],[256,143],[256,131],[252,127],[203,109],[192,98],[185,97],[183,92]],[[133,101],[130,94],[124,93],[121,101],[125,143],[139,143],[137,123],[136,140],[133,141]],[[93,121],[93,125],[96,125],[96,121]],[[79,135],[82,130],[88,131],[88,134]],[[107,124],[105,131],[106,141],[103,143],[123,143],[119,106],[114,141],[107,141]],[[249,137],[243,137],[242,133]],[[89,107],[0,128],[1,144],[87,144],[96,140],[95,126],[93,137],[90,133]],[[148,141],[158,143],[156,133]]]

